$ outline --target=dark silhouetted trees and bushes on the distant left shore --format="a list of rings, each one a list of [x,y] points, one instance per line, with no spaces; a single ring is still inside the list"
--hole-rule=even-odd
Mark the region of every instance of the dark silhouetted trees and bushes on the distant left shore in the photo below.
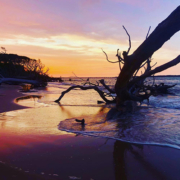
[[[3,52],[0,53],[0,74],[4,77],[3,80],[1,78],[1,82],[6,82],[7,79],[5,78],[19,78],[36,80],[41,82],[40,84],[43,82],[44,85],[47,84],[49,68],[45,68],[45,65],[42,64],[40,59],[36,60],[27,56],[7,54],[4,47],[1,47],[1,49]],[[10,79],[8,79],[8,82],[9,80]],[[14,80],[12,79],[12,81]],[[38,83],[35,84],[37,85]]]

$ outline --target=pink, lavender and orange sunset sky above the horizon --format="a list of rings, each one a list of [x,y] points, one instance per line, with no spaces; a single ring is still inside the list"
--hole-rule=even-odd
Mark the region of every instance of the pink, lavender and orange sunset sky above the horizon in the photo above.
[[[50,76],[115,77],[117,49],[129,54],[177,6],[179,0],[0,0],[0,47],[41,59]],[[151,33],[150,32],[150,33]],[[180,32],[154,53],[162,65],[180,54]],[[180,65],[159,74],[179,75]]]

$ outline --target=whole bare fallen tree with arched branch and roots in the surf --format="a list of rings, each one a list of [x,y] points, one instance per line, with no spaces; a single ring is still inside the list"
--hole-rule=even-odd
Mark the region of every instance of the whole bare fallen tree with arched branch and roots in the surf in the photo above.
[[[162,21],[155,30],[149,35],[150,28],[148,30],[145,41],[131,54],[129,55],[131,49],[131,38],[126,28],[123,26],[126,34],[129,37],[129,48],[127,51],[123,51],[122,55],[117,50],[117,61],[110,61],[107,54],[106,59],[110,63],[119,63],[120,73],[115,83],[115,88],[109,88],[104,80],[100,80],[102,86],[107,92],[102,91],[98,85],[94,86],[72,86],[66,91],[62,92],[62,95],[55,102],[59,102],[61,98],[72,89],[80,88],[82,90],[94,89],[99,93],[101,98],[106,103],[111,103],[116,101],[117,107],[124,105],[127,100],[142,102],[144,99],[148,99],[152,95],[152,89],[156,86],[146,86],[144,81],[147,77],[150,77],[158,72],[164,71],[172,66],[175,66],[180,62],[180,56],[169,61],[168,63],[161,65],[152,70],[151,57],[155,51],[163,46],[163,44],[168,41],[176,32],[180,30],[180,6],[178,6],[164,21]],[[137,76],[137,73],[141,68],[145,71],[141,76]],[[89,83],[89,82],[88,82]],[[87,84],[87,83],[85,83]],[[169,88],[165,87],[164,88]],[[163,87],[161,87],[163,89]],[[150,91],[150,92],[149,92]],[[116,94],[116,98],[112,95]],[[111,97],[112,99],[107,101],[106,97]]]

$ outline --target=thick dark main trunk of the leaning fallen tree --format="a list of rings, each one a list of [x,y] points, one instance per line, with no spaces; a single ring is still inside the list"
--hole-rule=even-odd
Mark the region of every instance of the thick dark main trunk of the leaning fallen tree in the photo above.
[[[128,99],[127,87],[131,77],[140,65],[180,30],[180,6],[162,21],[150,36],[134,51],[124,58],[124,66],[117,78],[115,91],[117,104]],[[165,69],[167,69],[166,67]]]

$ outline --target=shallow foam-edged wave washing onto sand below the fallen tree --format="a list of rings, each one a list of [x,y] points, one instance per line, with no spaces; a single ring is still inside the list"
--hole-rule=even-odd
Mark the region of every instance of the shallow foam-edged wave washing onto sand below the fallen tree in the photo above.
[[[151,144],[180,149],[180,110],[142,108],[117,119],[85,118],[82,126],[74,118],[65,119],[58,129],[85,136],[115,139],[135,144]]]

